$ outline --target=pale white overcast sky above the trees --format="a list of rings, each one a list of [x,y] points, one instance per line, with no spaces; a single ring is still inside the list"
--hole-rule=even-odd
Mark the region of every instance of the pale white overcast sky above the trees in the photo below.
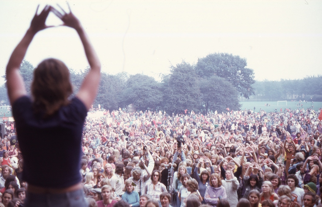
[[[0,76],[24,36],[37,5],[65,1],[1,0]],[[161,1],[70,0],[96,49],[102,70],[142,73],[157,79],[169,66],[191,64],[210,53],[247,59],[256,80],[299,79],[321,74],[322,1]],[[48,25],[60,20],[50,14]],[[88,65],[77,33],[67,27],[39,32],[25,59],[36,66],[45,58],[69,68]],[[4,80],[1,79],[0,83]]]

